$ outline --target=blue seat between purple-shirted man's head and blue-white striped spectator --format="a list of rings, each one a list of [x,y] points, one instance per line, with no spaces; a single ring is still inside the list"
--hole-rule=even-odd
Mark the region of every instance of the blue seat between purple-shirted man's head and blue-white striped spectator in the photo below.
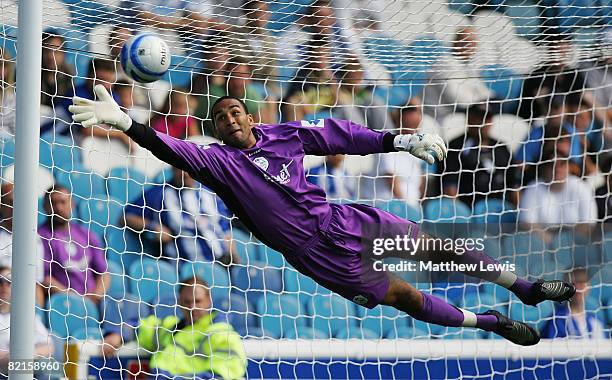
[[[78,216],[90,231],[103,240],[110,231],[119,229],[116,225],[123,217],[123,207],[124,204],[114,198],[91,198],[79,203]]]

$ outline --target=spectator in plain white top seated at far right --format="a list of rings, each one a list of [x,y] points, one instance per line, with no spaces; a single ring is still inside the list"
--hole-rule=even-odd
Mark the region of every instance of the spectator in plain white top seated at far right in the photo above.
[[[520,219],[531,224],[587,225],[597,219],[597,205],[591,187],[570,174],[569,138],[546,149],[538,169],[541,178],[523,190]]]

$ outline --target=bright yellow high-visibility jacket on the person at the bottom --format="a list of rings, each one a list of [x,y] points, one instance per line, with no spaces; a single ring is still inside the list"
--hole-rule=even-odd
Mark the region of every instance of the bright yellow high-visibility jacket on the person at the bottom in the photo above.
[[[162,319],[151,315],[141,319],[139,345],[151,352],[151,368],[172,375],[194,376],[212,372],[223,379],[244,377],[246,354],[240,336],[216,313],[187,325],[175,316]]]

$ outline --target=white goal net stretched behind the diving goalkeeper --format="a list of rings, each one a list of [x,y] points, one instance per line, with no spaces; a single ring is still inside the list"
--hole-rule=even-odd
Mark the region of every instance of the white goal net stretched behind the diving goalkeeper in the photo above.
[[[606,2],[44,0],[43,7],[36,342],[52,350],[66,377],[147,378],[181,366],[185,378],[211,371],[612,376]],[[9,266],[17,1],[4,1],[0,12],[0,264]],[[117,58],[144,32],[172,52],[169,72],[150,84],[127,77]],[[228,94],[256,123],[316,127],[336,118],[438,134],[449,147],[443,162],[406,153],[306,156],[306,179],[330,202],[364,203],[455,239],[481,239],[484,253],[519,276],[570,279],[579,293],[569,305],[530,307],[492,284],[395,271],[458,307],[532,324],[547,339],[529,349],[390,307],[368,310],[300,274],[216,194],[127,136],[73,123],[72,96],[93,98],[95,84],[133,120],[201,145],[217,141],[210,107]],[[200,293],[194,278],[209,291]],[[231,325],[248,364],[232,351],[231,334],[206,338],[209,312]],[[202,331],[189,335],[191,320]],[[8,334],[0,339],[8,350]]]

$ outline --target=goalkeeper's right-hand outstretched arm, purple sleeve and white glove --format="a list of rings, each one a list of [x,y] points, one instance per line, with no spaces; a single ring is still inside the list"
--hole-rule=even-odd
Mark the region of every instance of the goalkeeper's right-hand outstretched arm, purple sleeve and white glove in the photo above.
[[[446,145],[438,135],[395,135],[373,131],[348,120],[319,119],[289,123],[298,129],[306,154],[373,154],[406,151],[433,164],[446,157]]]

